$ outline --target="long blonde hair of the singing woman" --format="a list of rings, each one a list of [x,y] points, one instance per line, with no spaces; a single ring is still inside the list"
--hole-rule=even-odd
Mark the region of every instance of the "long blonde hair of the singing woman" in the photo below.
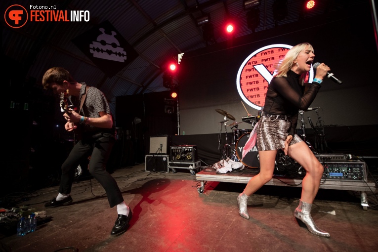
[[[288,72],[295,65],[293,64],[294,60],[296,59],[296,57],[298,57],[301,51],[304,51],[306,49],[306,46],[308,46],[308,50],[314,51],[314,48],[312,47],[312,45],[307,42],[300,43],[293,46],[286,53],[284,59],[276,65],[277,74],[275,75],[275,77],[281,77],[281,76],[288,77]],[[301,82],[302,85],[303,85],[304,79],[306,78],[306,74],[307,73],[303,73],[299,78],[299,81]]]

